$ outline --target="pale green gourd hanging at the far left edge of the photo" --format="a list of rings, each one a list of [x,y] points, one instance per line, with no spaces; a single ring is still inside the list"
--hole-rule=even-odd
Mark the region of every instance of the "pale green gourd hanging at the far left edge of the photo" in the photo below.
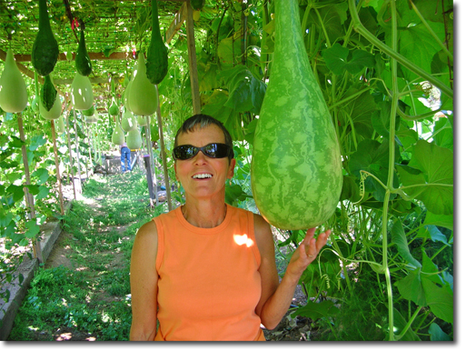
[[[6,52],[5,66],[0,76],[0,106],[5,112],[22,112],[27,105],[25,78],[19,72],[13,50]]]

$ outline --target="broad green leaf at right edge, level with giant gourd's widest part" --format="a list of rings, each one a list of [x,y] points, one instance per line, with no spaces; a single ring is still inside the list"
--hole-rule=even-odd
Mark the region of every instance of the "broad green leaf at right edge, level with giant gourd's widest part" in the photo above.
[[[414,145],[409,172],[397,166],[404,192],[421,200],[436,215],[453,214],[453,153],[451,150],[420,140]],[[421,171],[421,173],[419,173]]]

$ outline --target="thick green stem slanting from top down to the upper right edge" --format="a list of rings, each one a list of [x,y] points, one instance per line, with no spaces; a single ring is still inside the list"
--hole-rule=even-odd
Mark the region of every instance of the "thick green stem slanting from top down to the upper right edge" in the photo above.
[[[435,76],[432,76],[428,74],[426,71],[424,71],[421,67],[418,65],[414,65],[410,60],[408,60],[406,57],[403,55],[400,55],[396,51],[392,50],[392,48],[388,45],[383,44],[379,39],[377,39],[374,35],[372,35],[371,32],[369,32],[363,25],[362,22],[359,18],[358,12],[356,10],[356,5],[354,5],[355,0],[350,0],[348,2],[349,9],[350,9],[350,14],[352,16],[352,21],[353,21],[353,28],[354,31],[362,35],[364,38],[366,38],[372,45],[376,46],[379,48],[379,50],[382,51],[382,53],[389,55],[392,57],[393,60],[396,60],[400,64],[404,65],[406,68],[411,70],[413,73],[416,75],[421,76],[421,78],[428,80],[431,82],[432,85],[437,86],[441,91],[450,97],[451,99],[453,98],[453,91],[451,90],[450,87],[447,85],[444,85],[443,82],[441,82],[440,79],[437,79]]]

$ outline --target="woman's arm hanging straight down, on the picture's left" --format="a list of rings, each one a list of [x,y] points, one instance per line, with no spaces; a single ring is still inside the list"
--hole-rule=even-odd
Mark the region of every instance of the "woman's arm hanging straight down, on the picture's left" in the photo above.
[[[157,331],[157,244],[157,226],[154,221],[141,226],[134,239],[131,254],[132,341],[154,341]]]

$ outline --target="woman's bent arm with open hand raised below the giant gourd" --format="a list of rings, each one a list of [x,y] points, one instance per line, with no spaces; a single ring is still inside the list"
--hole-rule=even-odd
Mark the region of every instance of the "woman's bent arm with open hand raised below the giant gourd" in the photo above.
[[[261,274],[263,288],[261,299],[256,307],[256,313],[261,317],[263,326],[267,329],[273,329],[277,326],[290,308],[294,290],[298,285],[302,272],[319,254],[331,231],[327,230],[322,233],[317,240],[312,237],[314,232],[315,228],[307,231],[301,245],[292,254],[290,263],[279,284],[272,230],[262,216],[254,216],[254,236],[261,253],[259,273]]]

